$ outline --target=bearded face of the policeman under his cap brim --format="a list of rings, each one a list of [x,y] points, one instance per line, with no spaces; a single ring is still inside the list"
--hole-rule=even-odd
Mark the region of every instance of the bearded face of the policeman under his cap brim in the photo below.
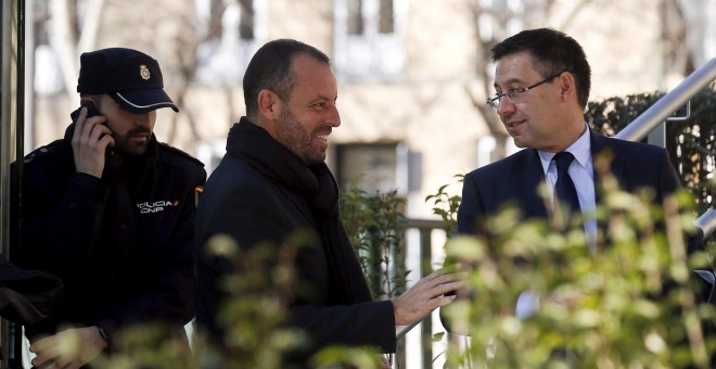
[[[129,113],[108,94],[93,96],[100,114],[112,130],[114,151],[124,155],[142,155],[146,152],[156,122],[156,111],[144,114]]]

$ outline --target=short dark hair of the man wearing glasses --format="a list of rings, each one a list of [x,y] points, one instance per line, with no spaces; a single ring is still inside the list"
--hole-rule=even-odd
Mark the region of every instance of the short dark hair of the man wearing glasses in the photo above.
[[[591,88],[591,69],[581,46],[566,34],[552,28],[523,30],[494,46],[493,62],[506,55],[527,51],[535,61],[535,69],[547,77],[571,68],[581,109],[587,107]]]

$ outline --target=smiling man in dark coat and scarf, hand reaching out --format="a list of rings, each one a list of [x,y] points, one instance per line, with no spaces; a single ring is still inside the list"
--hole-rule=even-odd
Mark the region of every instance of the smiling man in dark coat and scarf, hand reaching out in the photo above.
[[[229,296],[226,277],[247,272],[241,256],[209,252],[213,237],[229,236],[243,252],[268,247],[278,254],[282,245],[298,243],[292,263],[296,282],[284,297],[289,325],[301,328],[308,342],[289,354],[286,366],[304,367],[328,345],[395,352],[396,326],[449,304],[453,297],[443,294],[462,282],[436,271],[393,301],[372,301],[324,163],[329,136],[341,125],[336,80],[324,53],[290,39],[268,42],[253,56],[243,82],[246,116],[230,129],[227,154],[199,204],[200,327],[216,344],[232,348],[225,335],[233,327],[223,329],[217,320]],[[268,263],[267,275],[277,263]]]

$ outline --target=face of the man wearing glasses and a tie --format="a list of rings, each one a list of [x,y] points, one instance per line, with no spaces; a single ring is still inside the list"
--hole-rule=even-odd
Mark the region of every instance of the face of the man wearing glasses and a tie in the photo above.
[[[504,55],[497,62],[495,90],[524,88],[545,79],[528,52]],[[570,73],[522,92],[522,102],[500,99],[497,113],[519,148],[560,152],[584,132],[584,118],[576,103]]]

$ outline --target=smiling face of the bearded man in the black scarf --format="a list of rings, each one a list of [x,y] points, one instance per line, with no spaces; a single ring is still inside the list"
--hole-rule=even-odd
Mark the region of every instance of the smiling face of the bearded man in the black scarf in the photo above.
[[[279,100],[267,131],[306,164],[325,160],[328,137],[341,125],[335,106],[337,85],[330,65],[308,55],[293,60],[295,87],[289,101]]]

